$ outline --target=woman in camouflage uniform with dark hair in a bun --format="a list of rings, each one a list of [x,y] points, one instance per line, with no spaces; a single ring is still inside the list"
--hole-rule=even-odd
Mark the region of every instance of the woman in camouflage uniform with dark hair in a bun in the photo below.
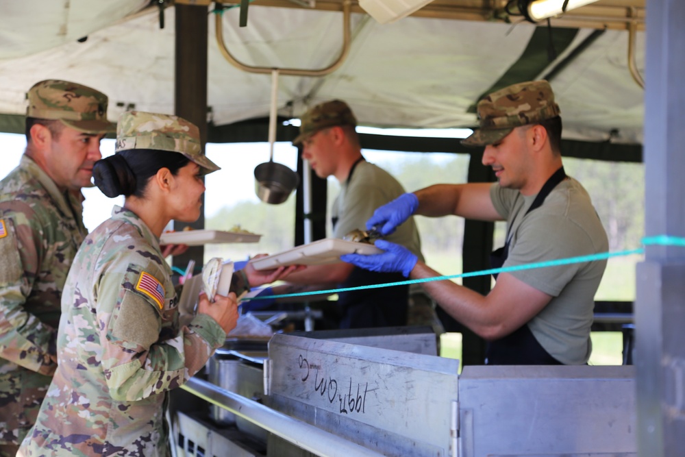
[[[93,175],[125,203],[76,255],[62,296],[58,369],[18,455],[169,455],[166,395],[223,345],[238,312],[234,293],[214,303],[202,295],[197,315],[179,328],[159,238],[171,219],[199,217],[202,177],[218,169],[188,121],[121,116],[116,154],[96,162]],[[245,269],[252,286],[290,271]]]

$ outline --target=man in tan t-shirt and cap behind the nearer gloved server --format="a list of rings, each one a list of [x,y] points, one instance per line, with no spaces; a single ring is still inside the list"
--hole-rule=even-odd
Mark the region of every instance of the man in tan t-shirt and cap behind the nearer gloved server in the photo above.
[[[347,103],[331,100],[319,103],[301,116],[300,134],[293,144],[301,146],[302,158],[321,178],[334,176],[340,193],[330,210],[333,236],[343,238],[364,223],[381,206],[406,191],[384,169],[366,162],[356,132],[357,119]],[[397,227],[388,239],[423,259],[419,230],[413,218]],[[310,265],[290,275],[277,293],[316,291],[326,288],[358,288],[338,293],[340,328],[375,328],[401,325],[433,325],[441,332],[433,304],[422,293],[412,293],[407,285],[364,288],[374,284],[398,282],[395,272],[369,272],[352,264]],[[412,291],[413,292],[413,291]],[[421,309],[421,312],[417,310]],[[411,312],[410,312],[411,311]]]

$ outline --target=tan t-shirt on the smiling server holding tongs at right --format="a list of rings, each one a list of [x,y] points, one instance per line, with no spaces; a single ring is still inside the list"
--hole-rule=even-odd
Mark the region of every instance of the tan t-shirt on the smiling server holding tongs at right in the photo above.
[[[507,219],[511,237],[504,267],[606,252],[604,227],[583,186],[569,178],[556,186],[539,208],[529,214],[536,195],[490,188],[493,205]],[[510,272],[518,280],[551,295],[549,304],[527,325],[538,343],[566,365],[590,358],[590,326],[595,293],[606,260]]]

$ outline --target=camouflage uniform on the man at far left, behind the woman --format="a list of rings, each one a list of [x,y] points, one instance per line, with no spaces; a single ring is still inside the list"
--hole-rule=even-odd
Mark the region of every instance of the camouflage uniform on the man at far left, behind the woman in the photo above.
[[[88,234],[82,199],[28,156],[0,181],[0,444],[21,443],[57,367],[62,289]]]

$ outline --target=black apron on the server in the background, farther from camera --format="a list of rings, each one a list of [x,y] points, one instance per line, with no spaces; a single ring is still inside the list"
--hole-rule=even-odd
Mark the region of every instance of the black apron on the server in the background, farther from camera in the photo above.
[[[356,166],[364,160],[359,158],[349,171],[347,181],[350,182]],[[332,218],[335,230],[338,218]],[[379,273],[354,267],[349,277],[338,286],[359,287],[372,284],[384,284],[405,280],[401,273]],[[398,327],[407,325],[409,304],[409,286],[392,286],[383,288],[369,288],[359,291],[338,293],[338,306],[343,314],[340,328],[376,328]]]

